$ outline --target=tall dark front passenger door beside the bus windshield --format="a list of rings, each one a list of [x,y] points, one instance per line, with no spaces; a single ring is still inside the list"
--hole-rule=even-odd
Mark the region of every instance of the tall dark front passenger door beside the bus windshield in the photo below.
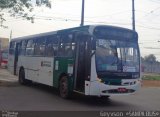
[[[76,57],[75,57],[75,89],[84,91],[85,80],[90,76],[91,66],[91,36],[77,36]]]

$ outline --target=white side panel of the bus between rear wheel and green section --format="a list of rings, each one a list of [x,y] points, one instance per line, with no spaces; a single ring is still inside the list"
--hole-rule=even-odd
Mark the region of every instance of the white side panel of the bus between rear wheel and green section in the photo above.
[[[18,66],[25,69],[26,79],[53,86],[53,58],[20,56]]]

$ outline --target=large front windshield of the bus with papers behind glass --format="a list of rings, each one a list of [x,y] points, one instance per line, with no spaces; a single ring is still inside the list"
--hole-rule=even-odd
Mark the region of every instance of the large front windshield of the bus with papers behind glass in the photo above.
[[[98,39],[96,43],[97,72],[139,72],[137,42]]]

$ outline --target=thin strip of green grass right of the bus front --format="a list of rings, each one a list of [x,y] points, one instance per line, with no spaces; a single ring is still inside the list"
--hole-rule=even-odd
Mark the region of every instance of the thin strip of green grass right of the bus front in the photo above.
[[[160,80],[159,74],[144,74],[142,76],[143,80]]]

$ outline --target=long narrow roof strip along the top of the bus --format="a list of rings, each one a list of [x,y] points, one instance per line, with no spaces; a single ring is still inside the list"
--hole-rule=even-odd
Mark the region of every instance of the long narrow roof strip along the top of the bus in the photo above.
[[[32,39],[32,38],[36,38],[36,37],[50,36],[50,35],[55,35],[55,34],[68,34],[68,33],[74,32],[74,31],[87,31],[89,33],[89,28],[94,29],[95,27],[105,27],[108,29],[118,29],[118,30],[124,30],[124,31],[136,33],[135,31],[133,31],[131,29],[117,27],[117,26],[111,26],[111,25],[86,25],[86,26],[82,26],[82,27],[73,27],[73,28],[68,28],[68,29],[62,29],[62,30],[57,30],[57,31],[51,31],[51,32],[46,32],[46,33],[40,33],[40,34],[35,34],[35,35],[13,38],[11,41]]]

